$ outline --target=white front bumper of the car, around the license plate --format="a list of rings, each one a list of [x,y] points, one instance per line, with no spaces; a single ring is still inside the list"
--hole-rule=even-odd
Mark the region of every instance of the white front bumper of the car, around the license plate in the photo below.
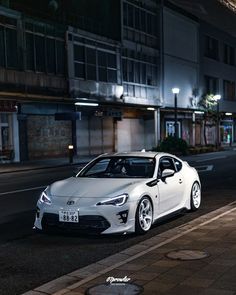
[[[112,234],[134,232],[134,210],[131,203],[124,206],[94,206],[73,208],[79,210],[79,222],[59,221],[59,210],[44,204],[38,204],[34,226],[40,230],[60,230],[86,234]],[[70,209],[72,209],[70,207]],[[69,210],[64,207],[63,210]]]

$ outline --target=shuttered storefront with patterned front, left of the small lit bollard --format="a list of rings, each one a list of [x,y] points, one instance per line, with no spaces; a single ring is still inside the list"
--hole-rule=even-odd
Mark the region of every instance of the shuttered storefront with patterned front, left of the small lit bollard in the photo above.
[[[72,144],[72,111],[72,104],[21,104],[21,160],[67,156],[68,145]]]

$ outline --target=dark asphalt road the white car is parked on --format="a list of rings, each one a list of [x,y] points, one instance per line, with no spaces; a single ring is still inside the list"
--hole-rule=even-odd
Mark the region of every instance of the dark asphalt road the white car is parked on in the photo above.
[[[201,208],[163,220],[145,236],[35,233],[32,226],[39,193],[47,184],[72,175],[72,168],[0,175],[0,294],[21,294],[235,200],[236,151],[186,159],[201,171]]]

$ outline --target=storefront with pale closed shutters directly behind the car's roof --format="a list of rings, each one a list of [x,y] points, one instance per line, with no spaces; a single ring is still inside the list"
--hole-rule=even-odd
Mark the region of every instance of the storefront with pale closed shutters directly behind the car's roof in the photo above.
[[[99,106],[78,108],[78,155],[147,149],[155,145],[154,113],[146,108]]]

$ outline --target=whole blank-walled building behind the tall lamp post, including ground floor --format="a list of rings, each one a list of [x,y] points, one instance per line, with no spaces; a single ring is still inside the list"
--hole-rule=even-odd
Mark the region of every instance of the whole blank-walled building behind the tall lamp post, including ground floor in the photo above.
[[[199,23],[192,15],[173,7],[162,7],[162,95],[161,137],[175,133],[177,112],[178,137],[195,145],[194,111],[199,89]],[[179,88],[175,110],[173,88]]]

